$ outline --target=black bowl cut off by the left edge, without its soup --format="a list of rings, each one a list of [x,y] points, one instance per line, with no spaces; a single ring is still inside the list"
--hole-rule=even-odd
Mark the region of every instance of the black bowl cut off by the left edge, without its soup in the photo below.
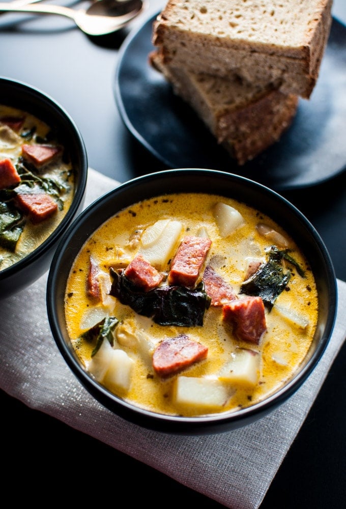
[[[82,136],[72,118],[54,99],[27,83],[0,77],[0,103],[26,111],[59,133],[75,169],[75,194],[65,217],[34,251],[12,266],[0,270],[0,298],[31,285],[49,268],[57,242],[84,203],[88,159]]]

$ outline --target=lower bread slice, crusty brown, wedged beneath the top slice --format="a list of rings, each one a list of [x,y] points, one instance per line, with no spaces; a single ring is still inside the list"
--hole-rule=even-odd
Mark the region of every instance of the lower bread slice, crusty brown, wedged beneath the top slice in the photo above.
[[[149,61],[239,165],[273,145],[295,117],[298,97],[270,85],[243,83],[236,74],[220,78],[165,65],[158,51],[150,53]]]

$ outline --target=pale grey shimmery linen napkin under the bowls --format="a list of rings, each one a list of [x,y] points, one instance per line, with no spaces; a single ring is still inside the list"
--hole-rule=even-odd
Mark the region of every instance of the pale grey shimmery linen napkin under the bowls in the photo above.
[[[85,205],[118,184],[90,169]],[[28,407],[60,419],[226,507],[260,506],[345,340],[346,282],[337,281],[338,314],[327,350],[289,401],[239,430],[188,437],[143,429],[93,400],[52,338],[46,317],[46,280],[47,273],[2,302],[1,388]]]

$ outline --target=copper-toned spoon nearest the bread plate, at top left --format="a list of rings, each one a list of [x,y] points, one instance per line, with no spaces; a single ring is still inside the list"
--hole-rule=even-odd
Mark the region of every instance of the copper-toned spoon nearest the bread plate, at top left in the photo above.
[[[145,0],[98,0],[86,10],[54,5],[23,5],[0,3],[1,12],[59,14],[73,19],[84,34],[101,36],[122,29],[145,7]]]

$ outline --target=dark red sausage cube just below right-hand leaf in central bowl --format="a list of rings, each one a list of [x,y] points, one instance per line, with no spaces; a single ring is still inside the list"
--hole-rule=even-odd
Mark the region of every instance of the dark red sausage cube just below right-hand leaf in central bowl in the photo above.
[[[261,297],[248,295],[236,299],[222,308],[222,319],[233,326],[239,340],[260,343],[267,330],[265,307]]]

